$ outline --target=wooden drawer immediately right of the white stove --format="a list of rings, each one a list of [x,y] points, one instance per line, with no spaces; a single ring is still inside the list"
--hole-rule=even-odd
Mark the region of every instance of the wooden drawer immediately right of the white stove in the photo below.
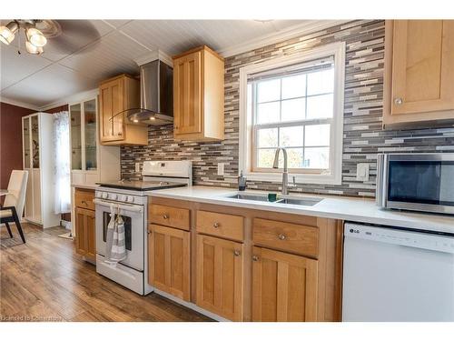
[[[190,212],[186,208],[151,204],[148,210],[148,222],[189,231]]]

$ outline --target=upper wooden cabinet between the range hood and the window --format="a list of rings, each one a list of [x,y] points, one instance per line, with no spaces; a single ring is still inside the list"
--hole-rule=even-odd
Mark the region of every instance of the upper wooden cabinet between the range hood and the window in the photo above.
[[[173,118],[177,140],[224,138],[224,62],[207,46],[173,57]]]

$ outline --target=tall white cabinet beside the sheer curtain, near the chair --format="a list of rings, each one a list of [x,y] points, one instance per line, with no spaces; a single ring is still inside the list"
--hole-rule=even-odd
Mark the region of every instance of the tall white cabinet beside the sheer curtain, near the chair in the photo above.
[[[22,118],[23,166],[28,172],[25,220],[52,227],[60,225],[54,214],[54,117],[46,113]]]

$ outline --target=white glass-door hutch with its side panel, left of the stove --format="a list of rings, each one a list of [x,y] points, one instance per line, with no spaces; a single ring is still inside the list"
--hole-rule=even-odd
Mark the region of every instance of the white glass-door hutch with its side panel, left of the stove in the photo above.
[[[71,184],[94,185],[120,179],[120,147],[100,145],[97,99],[69,105]]]

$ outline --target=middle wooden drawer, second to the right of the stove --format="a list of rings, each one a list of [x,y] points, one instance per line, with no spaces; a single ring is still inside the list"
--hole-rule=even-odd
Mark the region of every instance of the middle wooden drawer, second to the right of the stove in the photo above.
[[[206,235],[221,236],[241,242],[244,237],[242,216],[197,211],[196,226],[197,232]]]

